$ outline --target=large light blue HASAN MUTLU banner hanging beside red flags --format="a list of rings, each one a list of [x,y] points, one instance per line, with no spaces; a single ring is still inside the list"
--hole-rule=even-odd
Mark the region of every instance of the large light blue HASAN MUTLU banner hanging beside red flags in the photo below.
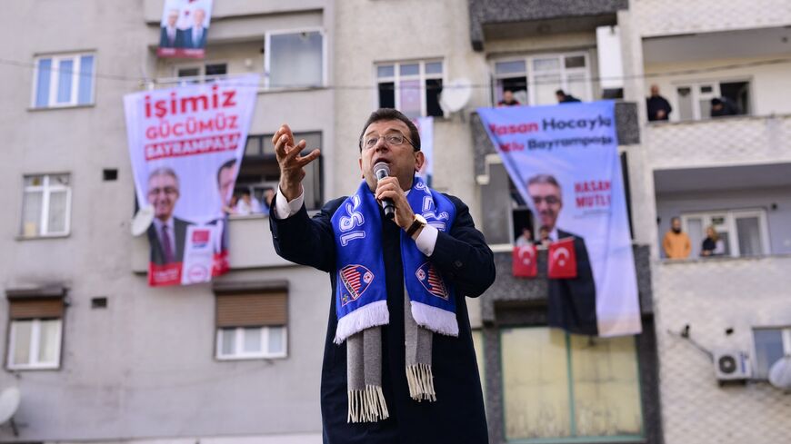
[[[548,321],[598,336],[641,331],[611,101],[481,108],[516,189],[550,242]]]

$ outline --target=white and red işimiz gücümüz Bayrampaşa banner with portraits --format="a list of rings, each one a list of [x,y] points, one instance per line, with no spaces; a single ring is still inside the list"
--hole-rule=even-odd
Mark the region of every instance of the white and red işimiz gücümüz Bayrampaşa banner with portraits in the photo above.
[[[150,205],[152,286],[228,270],[227,209],[255,108],[258,75],[124,97],[135,192]]]

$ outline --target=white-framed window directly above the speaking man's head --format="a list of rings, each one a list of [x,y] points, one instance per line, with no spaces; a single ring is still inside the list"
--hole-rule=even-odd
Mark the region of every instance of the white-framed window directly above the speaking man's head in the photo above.
[[[410,119],[443,116],[439,105],[443,72],[441,61],[376,65],[379,107],[395,108]]]

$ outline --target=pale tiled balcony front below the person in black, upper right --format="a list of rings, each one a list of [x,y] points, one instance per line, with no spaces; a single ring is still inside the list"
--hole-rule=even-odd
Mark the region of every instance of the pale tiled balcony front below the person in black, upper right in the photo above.
[[[644,134],[654,170],[791,162],[791,114],[652,123]]]

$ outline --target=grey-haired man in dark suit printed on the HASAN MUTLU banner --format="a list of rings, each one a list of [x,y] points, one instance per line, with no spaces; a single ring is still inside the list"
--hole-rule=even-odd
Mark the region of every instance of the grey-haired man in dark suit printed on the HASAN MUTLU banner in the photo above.
[[[585,240],[560,230],[556,225],[563,209],[560,183],[551,174],[537,174],[527,181],[527,192],[533,200],[541,228],[549,232],[549,242],[574,238],[576,278],[549,280],[548,323],[572,333],[596,335],[596,285]]]

